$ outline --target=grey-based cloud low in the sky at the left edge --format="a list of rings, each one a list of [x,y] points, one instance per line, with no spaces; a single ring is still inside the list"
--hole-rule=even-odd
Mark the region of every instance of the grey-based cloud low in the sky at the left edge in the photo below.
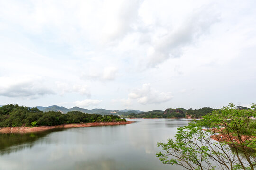
[[[43,80],[40,78],[0,77],[0,82],[0,96],[35,99],[54,94],[52,90],[43,86]]]

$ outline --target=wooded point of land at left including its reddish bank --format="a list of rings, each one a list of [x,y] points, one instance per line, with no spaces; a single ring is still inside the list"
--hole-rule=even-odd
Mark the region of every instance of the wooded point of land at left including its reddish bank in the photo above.
[[[88,114],[70,111],[62,114],[56,111],[43,112],[37,107],[8,104],[0,107],[0,133],[26,133],[54,128],[124,125],[132,121],[117,115]]]

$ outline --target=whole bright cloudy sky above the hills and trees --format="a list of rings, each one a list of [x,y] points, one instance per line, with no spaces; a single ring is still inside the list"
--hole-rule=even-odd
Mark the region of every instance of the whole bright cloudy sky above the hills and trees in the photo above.
[[[255,0],[0,0],[0,105],[256,102]]]

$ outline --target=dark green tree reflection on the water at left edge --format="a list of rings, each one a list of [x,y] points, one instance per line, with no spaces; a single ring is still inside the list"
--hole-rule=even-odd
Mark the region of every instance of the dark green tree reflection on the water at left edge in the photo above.
[[[0,134],[0,155],[17,152],[25,148],[34,146],[35,141],[47,136],[53,131],[61,131],[62,129],[53,129],[45,132],[36,133],[8,133]]]

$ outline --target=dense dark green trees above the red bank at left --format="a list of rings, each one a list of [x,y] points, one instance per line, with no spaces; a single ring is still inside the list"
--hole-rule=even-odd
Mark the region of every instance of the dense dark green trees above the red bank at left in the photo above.
[[[70,111],[62,114],[56,111],[42,112],[37,107],[29,108],[8,104],[0,107],[0,127],[54,126],[69,123],[126,121],[117,115],[88,114]]]

